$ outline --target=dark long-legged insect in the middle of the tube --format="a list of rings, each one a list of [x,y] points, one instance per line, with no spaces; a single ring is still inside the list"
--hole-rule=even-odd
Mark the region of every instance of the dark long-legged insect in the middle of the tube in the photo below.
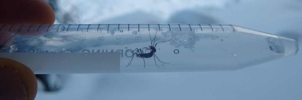
[[[157,32],[157,30],[156,30],[156,32]],[[153,55],[153,57],[154,57],[154,62],[155,62],[155,65],[157,66],[157,67],[159,67],[157,64],[156,64],[156,60],[155,60],[155,57],[157,58],[157,60],[159,60],[158,59],[158,57],[154,54],[155,52],[156,52],[156,45],[157,45],[157,43],[162,43],[162,42],[167,42],[167,41],[162,41],[162,42],[157,42],[157,43],[155,43],[155,39],[151,39],[151,35],[150,35],[150,32],[149,32],[149,36],[150,36],[150,40],[151,40],[151,46],[149,46],[149,48],[147,48],[147,47],[144,47],[143,49],[138,49],[138,48],[136,48],[136,49],[134,49],[133,51],[132,51],[132,53],[134,52],[134,51],[136,51],[137,50],[137,52],[136,53],[133,53],[133,54],[135,54],[137,57],[140,57],[140,58],[143,58],[143,60],[144,60],[144,68],[145,68],[145,65],[146,65],[146,63],[145,63],[145,58],[151,58]],[[156,33],[155,33],[155,37],[154,38],[156,38]],[[172,40],[172,39],[171,39]],[[168,41],[171,41],[171,40],[168,40]],[[152,44],[152,42],[153,42],[153,44]],[[155,45],[154,45],[155,44]],[[145,50],[145,53],[143,53],[143,50],[144,49],[146,49]],[[147,50],[150,50],[150,52],[149,53],[146,53],[146,51]],[[133,55],[134,56],[134,55]],[[133,56],[132,56],[132,59],[133,59]],[[131,59],[131,61],[128,63],[128,65],[127,66],[129,66],[130,64],[131,64],[131,62],[132,62],[132,59]],[[160,61],[160,60],[159,60]],[[162,61],[160,61],[160,62],[162,62]],[[162,62],[162,63],[166,63],[166,62]],[[168,64],[168,63],[166,63],[166,64]],[[126,67],[127,67],[126,66]]]

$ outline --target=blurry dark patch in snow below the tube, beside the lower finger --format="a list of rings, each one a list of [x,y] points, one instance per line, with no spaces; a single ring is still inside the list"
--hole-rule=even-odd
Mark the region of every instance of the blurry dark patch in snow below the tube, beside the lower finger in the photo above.
[[[44,91],[56,92],[61,89],[61,79],[57,74],[36,74],[37,80],[41,80]]]

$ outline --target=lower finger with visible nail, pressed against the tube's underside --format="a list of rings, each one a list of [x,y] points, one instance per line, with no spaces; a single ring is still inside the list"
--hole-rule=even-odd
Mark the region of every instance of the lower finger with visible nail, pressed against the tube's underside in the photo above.
[[[0,64],[0,99],[34,100],[37,79],[31,69],[20,62],[5,58],[0,58]]]

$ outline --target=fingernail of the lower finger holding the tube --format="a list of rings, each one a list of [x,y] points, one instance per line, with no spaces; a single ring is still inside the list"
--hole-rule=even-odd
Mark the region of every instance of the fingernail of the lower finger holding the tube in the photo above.
[[[26,90],[18,73],[0,66],[0,100],[26,100]]]

